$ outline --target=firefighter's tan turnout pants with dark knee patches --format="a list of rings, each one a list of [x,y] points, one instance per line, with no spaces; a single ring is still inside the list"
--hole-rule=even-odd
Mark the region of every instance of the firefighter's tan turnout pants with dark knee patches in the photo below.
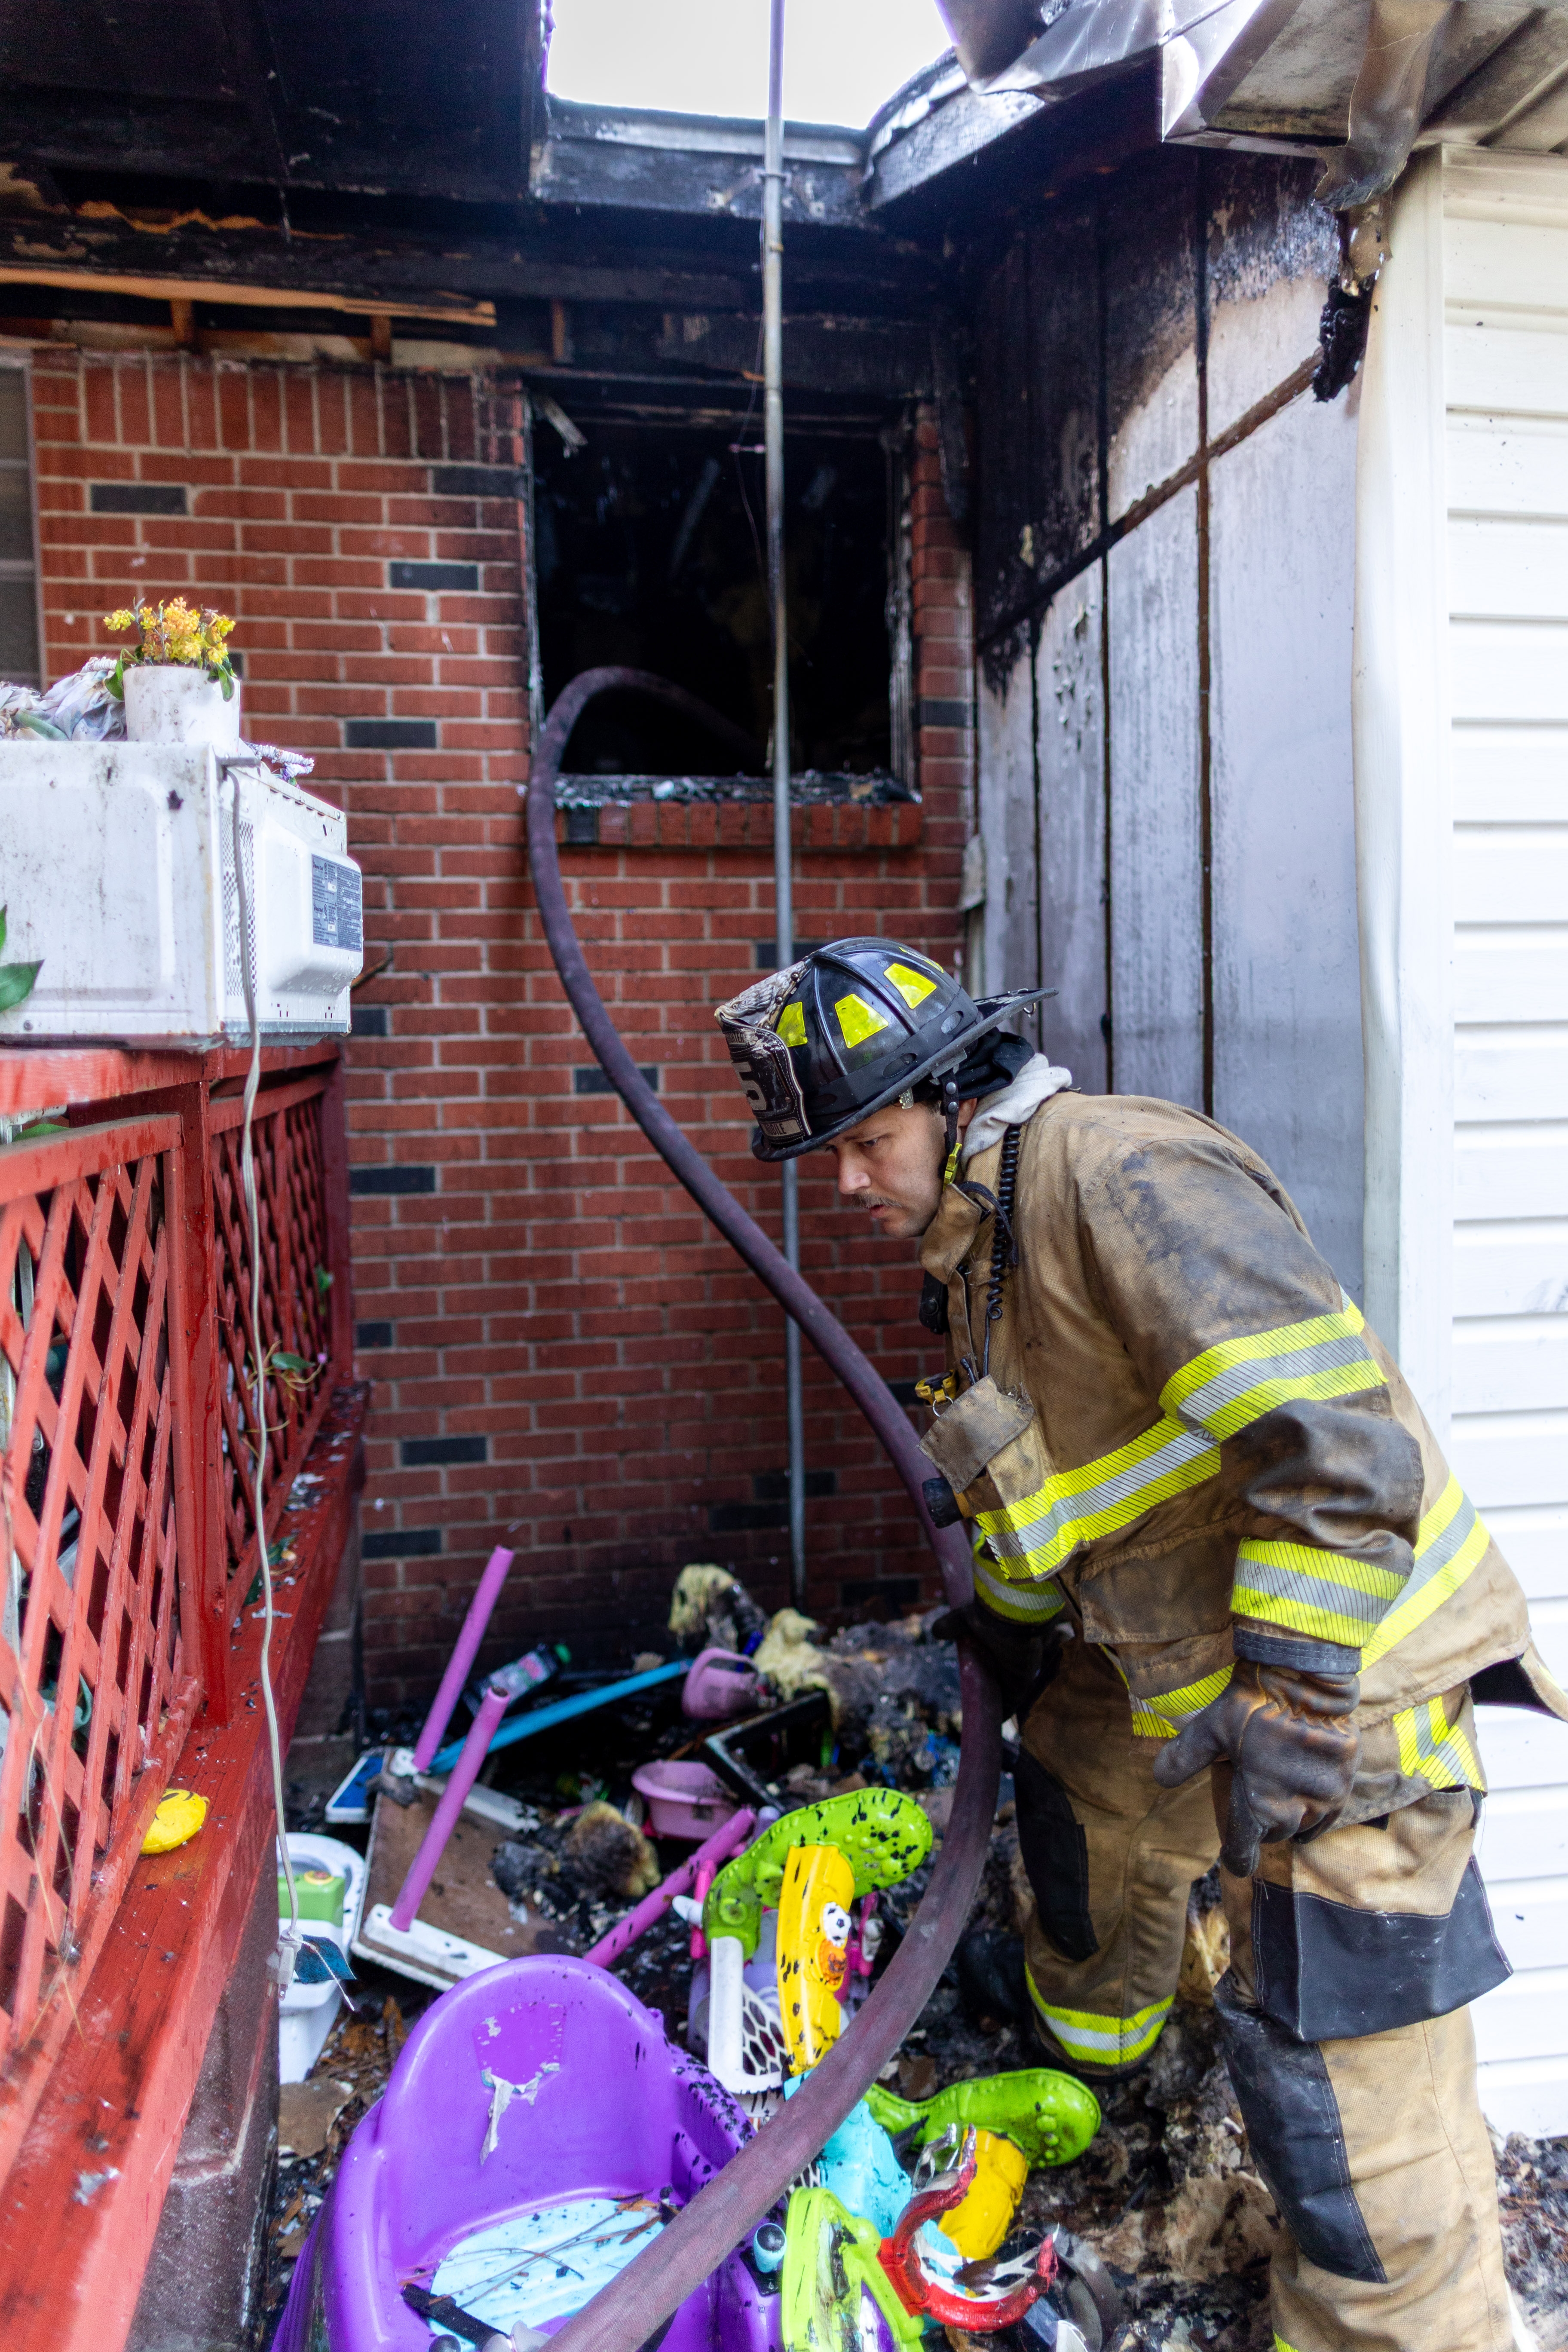
[[[1462,1717],[1469,1736],[1469,1705]],[[1086,2079],[1171,2013],[1187,1891],[1220,1851],[1227,1769],[1161,1790],[1110,1658],[1065,1644],[1023,1726],[1018,1839],[1046,2046]],[[1469,1790],[1262,1849],[1222,1877],[1215,2009],[1253,2164],[1281,2213],[1276,2352],[1507,2352],[1493,2154],[1467,2002],[1507,1976]]]

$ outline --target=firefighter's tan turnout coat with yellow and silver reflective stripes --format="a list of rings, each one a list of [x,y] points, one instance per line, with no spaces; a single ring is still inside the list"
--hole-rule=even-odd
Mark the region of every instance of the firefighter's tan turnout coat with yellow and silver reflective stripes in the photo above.
[[[964,1178],[994,1195],[999,1160]],[[947,1185],[922,1244],[959,1390],[924,1446],[990,1611],[1103,1644],[1152,1738],[1225,1686],[1237,1618],[1359,1670],[1345,1818],[1481,1785],[1488,1668],[1488,1698],[1568,1715],[1399,1367],[1246,1143],[1175,1103],[1056,1094],[1023,1127],[1013,1232],[990,1369],[994,1218]]]

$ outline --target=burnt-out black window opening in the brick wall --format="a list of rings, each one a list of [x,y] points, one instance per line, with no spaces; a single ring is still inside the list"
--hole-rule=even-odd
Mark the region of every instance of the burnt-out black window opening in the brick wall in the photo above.
[[[545,706],[578,670],[632,663],[743,727],[773,724],[762,423],[585,421],[571,454],[534,433],[534,567]],[[889,741],[889,459],[875,433],[785,440],[790,762],[882,774]],[[682,776],[726,767],[679,717],[625,696],[585,713],[571,767]]]

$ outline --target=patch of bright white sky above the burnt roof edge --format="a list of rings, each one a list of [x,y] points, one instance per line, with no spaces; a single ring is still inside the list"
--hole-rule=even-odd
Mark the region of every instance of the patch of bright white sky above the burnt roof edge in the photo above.
[[[947,47],[936,0],[788,0],[785,115],[858,129]],[[597,106],[764,115],[769,0],[555,0],[550,89]]]

